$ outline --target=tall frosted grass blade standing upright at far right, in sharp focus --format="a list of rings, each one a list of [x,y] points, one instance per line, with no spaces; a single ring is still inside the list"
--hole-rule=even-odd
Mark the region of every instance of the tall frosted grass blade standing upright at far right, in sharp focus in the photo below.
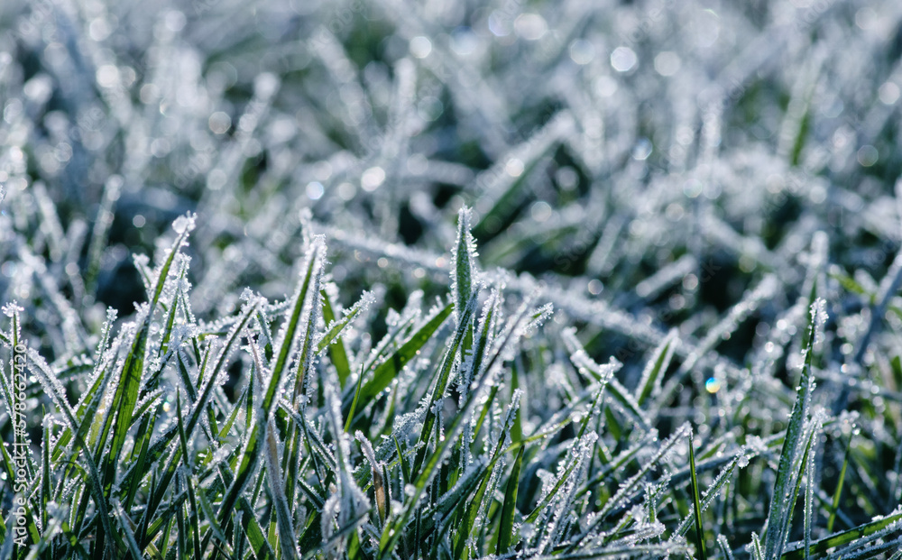
[[[777,468],[777,479],[774,481],[773,498],[770,502],[770,511],[767,520],[767,533],[764,537],[765,556],[776,558],[782,554],[785,546],[787,525],[792,515],[792,507],[788,503],[790,499],[795,503],[795,497],[789,496],[790,486],[794,478],[793,465],[796,463],[798,447],[804,430],[805,419],[808,418],[811,391],[814,389],[814,374],[811,369],[812,357],[815,351],[815,338],[817,325],[825,320],[824,300],[818,299],[812,304],[811,320],[808,323],[807,341],[805,344],[805,362],[802,366],[802,374],[796,389],[796,402],[789,416],[786,437],[783,440],[783,450]]]

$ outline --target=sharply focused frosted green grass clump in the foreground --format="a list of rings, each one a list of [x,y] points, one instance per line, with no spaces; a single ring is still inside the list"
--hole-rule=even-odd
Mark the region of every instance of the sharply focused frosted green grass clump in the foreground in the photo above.
[[[655,427],[670,424],[655,403],[678,337],[649,353],[628,390],[621,363],[595,363],[572,329],[542,325],[552,309],[541,288],[522,295],[479,270],[468,217],[445,297],[427,307],[412,294],[374,342],[373,294],[340,307],[327,244],[307,224],[293,294],[245,290],[215,321],[192,311],[195,216],[176,220],[159,264],[144,269],[148,301],[133,320],[116,328],[110,309],[99,336],[81,333],[91,353],[48,362],[24,342],[23,308],[7,306],[0,340],[32,374],[19,401],[4,378],[7,410],[47,402],[41,455],[25,453],[20,467],[5,448],[7,479],[29,481],[16,493],[27,532],[5,520],[8,554],[705,558],[706,540],[732,555],[736,533],[724,529],[763,520],[739,492],[770,491],[769,481],[751,555],[887,549],[898,512],[813,537],[844,503],[818,489],[817,440],[850,422],[810,412],[823,300],[812,304],[787,428],[745,445],[729,431],[707,436],[696,452],[689,423],[664,441]],[[804,542],[792,545],[803,483]]]

